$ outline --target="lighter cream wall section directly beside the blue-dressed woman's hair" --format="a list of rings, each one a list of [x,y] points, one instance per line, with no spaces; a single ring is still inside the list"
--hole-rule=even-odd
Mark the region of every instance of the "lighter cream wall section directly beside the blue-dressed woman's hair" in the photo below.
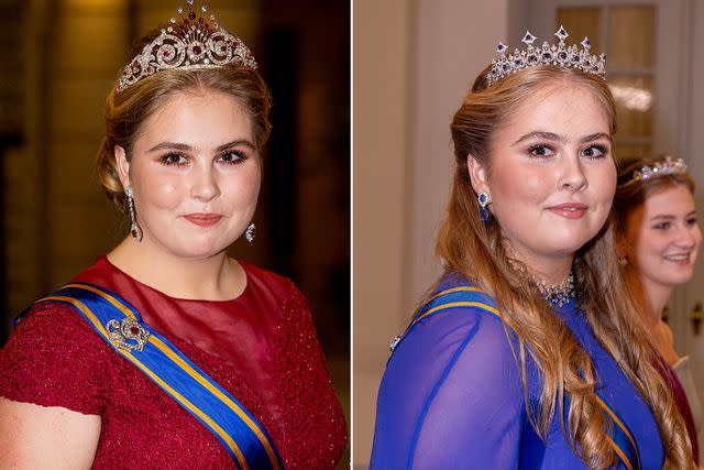
[[[416,83],[408,116],[414,175],[408,260],[409,300],[415,303],[439,274],[435,241],[452,182],[453,149],[450,122],[477,74],[507,41],[508,0],[418,0],[413,59]],[[409,163],[411,163],[409,162]]]

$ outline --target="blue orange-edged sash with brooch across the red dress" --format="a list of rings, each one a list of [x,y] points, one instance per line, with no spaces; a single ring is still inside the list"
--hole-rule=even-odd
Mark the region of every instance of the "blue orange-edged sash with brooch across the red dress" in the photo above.
[[[72,306],[116,352],[212,433],[238,469],[284,468],[262,424],[166,338],[145,325],[134,307],[122,298],[101,287],[74,283],[38,302]]]

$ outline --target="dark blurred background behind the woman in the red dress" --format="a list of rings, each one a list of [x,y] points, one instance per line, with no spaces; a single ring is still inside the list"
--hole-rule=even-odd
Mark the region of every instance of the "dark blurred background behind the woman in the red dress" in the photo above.
[[[256,240],[232,254],[308,296],[349,417],[350,3],[205,3],[253,51],[274,97]],[[105,99],[131,44],[178,4],[0,0],[0,345],[13,316],[127,234],[96,175]]]

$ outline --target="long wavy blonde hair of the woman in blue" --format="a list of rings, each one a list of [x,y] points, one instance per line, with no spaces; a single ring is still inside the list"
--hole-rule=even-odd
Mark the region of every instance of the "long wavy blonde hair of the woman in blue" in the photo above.
[[[479,217],[477,195],[468,171],[468,155],[487,165],[491,174],[493,138],[512,112],[536,91],[569,83],[590,90],[616,131],[615,106],[606,83],[572,68],[538,66],[509,75],[488,87],[480,74],[451,124],[457,170],[437,254],[448,270],[473,280],[494,296],[499,309],[518,334],[516,358],[527,395],[527,351],[541,363],[542,390],[538,406],[527,412],[543,438],[559,413],[565,439],[590,469],[606,469],[617,457],[606,439],[607,419],[597,403],[597,378],[588,353],[550,309],[536,286],[512,260],[494,217],[484,225]],[[574,255],[576,295],[601,345],[650,406],[662,438],[664,468],[694,469],[690,441],[671,393],[652,367],[658,360],[648,342],[635,304],[626,288],[615,254],[613,216],[600,233]],[[564,397],[570,396],[566,423]]]

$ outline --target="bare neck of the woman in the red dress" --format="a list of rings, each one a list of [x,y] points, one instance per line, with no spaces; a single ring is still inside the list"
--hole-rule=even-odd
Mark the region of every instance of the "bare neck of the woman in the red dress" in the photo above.
[[[108,253],[108,260],[136,281],[170,297],[229,300],[246,286],[246,275],[224,251],[191,259],[169,253],[147,239],[125,238]]]

